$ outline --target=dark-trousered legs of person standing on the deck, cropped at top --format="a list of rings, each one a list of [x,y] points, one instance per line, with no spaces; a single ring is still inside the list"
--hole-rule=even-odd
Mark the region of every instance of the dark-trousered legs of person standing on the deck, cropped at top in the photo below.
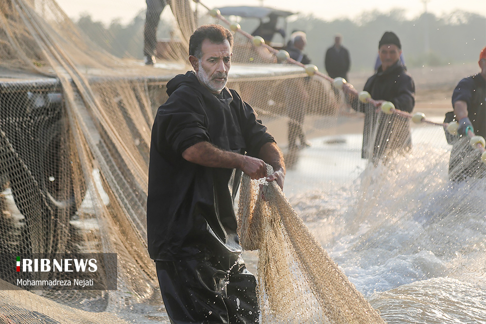
[[[145,65],[156,63],[154,51],[157,46],[157,27],[160,15],[167,5],[167,0],[146,0],[147,12],[143,29],[143,56]]]

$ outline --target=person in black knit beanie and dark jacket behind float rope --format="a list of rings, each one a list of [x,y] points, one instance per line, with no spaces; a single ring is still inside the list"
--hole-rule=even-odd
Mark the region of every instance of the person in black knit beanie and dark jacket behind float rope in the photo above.
[[[400,62],[401,44],[393,32],[385,32],[378,46],[382,65],[364,85],[364,91],[379,103],[389,101],[396,109],[411,113],[415,106],[415,83]],[[362,157],[375,164],[392,153],[412,147],[410,122],[398,115],[385,115],[370,104],[353,104],[364,112]]]

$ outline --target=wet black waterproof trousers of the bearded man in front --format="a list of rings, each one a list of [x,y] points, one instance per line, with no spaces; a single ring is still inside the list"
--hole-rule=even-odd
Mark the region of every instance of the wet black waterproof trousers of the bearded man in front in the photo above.
[[[255,276],[243,259],[156,261],[172,323],[259,323]]]

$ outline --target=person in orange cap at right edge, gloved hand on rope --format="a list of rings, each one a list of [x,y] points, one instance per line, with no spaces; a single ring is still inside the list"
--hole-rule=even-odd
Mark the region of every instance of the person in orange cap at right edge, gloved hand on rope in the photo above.
[[[469,145],[468,132],[486,137],[486,47],[479,54],[481,72],[462,79],[452,93],[455,120],[459,123],[459,138],[452,144],[449,177],[462,181],[486,176],[481,153]]]

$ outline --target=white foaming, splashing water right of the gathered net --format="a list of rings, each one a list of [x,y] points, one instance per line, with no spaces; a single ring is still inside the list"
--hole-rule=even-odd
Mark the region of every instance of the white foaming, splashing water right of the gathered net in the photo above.
[[[486,182],[449,181],[446,147],[414,143],[291,203],[387,323],[486,323]]]

